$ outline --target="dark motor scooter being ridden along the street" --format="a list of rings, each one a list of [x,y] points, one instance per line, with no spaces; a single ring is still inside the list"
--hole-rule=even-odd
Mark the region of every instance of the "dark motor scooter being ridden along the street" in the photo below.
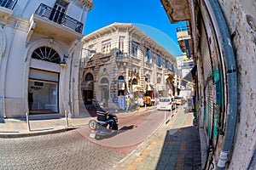
[[[113,121],[113,127],[110,128],[107,120]],[[118,117],[108,111],[97,111],[97,120],[91,119],[89,122],[90,138],[102,139],[112,137],[118,133]]]

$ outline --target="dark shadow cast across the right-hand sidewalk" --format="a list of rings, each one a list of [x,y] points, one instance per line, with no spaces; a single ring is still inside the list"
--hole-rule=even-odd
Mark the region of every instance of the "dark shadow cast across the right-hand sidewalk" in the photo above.
[[[167,131],[156,169],[201,169],[198,130],[183,127]]]

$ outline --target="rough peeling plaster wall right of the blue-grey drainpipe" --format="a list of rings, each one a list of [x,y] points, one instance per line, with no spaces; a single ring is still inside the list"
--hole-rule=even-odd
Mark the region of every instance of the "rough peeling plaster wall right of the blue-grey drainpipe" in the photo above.
[[[229,169],[247,169],[256,144],[256,3],[219,0],[230,29],[238,72],[238,123]]]

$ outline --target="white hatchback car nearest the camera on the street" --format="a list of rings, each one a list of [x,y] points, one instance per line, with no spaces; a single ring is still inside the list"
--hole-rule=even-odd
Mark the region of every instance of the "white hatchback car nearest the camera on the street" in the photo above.
[[[157,110],[167,110],[171,111],[176,108],[176,102],[175,99],[172,97],[161,97],[157,101]]]

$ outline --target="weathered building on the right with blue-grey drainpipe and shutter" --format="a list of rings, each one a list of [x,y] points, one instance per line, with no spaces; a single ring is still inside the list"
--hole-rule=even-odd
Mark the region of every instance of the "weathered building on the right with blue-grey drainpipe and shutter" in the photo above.
[[[161,3],[172,23],[187,21],[193,37],[202,168],[255,169],[255,1]]]

